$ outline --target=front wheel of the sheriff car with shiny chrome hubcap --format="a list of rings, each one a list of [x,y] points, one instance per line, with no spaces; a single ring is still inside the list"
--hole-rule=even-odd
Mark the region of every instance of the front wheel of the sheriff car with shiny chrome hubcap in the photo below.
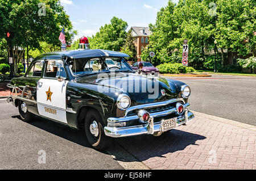
[[[108,147],[110,138],[104,133],[104,122],[96,110],[88,110],[85,116],[85,133],[89,144],[97,150]]]

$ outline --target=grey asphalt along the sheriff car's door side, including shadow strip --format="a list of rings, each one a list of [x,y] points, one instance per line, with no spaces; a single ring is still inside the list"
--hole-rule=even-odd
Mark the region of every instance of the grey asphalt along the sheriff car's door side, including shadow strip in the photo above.
[[[0,107],[0,169],[123,169],[110,154],[89,148],[84,132],[41,119],[24,123],[17,108]]]

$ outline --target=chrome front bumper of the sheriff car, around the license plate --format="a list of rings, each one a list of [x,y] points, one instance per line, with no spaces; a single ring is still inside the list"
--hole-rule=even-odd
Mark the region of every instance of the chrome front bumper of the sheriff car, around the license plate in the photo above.
[[[176,127],[187,123],[187,121],[195,117],[192,112],[185,108],[184,116],[177,117]],[[132,127],[105,127],[104,132],[106,136],[110,137],[129,137],[142,134],[154,134],[162,132],[162,122],[154,123],[154,117],[151,117],[150,123],[144,125],[137,125]]]

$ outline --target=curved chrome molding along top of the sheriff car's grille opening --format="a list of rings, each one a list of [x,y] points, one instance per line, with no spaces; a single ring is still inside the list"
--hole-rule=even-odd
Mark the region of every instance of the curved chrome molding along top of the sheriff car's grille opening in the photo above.
[[[149,104],[141,104],[138,106],[133,106],[133,107],[129,107],[126,111],[125,111],[125,116],[127,116],[127,113],[134,111],[134,110],[140,110],[140,109],[147,109],[147,108],[151,108],[151,107],[160,107],[160,106],[166,106],[168,104],[171,103],[175,103],[178,101],[182,101],[185,104],[184,99],[179,98],[179,99],[170,99],[170,100],[166,100],[163,102],[156,102],[156,103],[149,103]]]

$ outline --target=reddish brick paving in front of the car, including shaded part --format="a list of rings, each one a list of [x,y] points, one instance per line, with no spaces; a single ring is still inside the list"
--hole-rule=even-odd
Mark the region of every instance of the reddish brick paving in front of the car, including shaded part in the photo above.
[[[196,116],[160,137],[119,138],[150,169],[256,169],[256,132]]]

